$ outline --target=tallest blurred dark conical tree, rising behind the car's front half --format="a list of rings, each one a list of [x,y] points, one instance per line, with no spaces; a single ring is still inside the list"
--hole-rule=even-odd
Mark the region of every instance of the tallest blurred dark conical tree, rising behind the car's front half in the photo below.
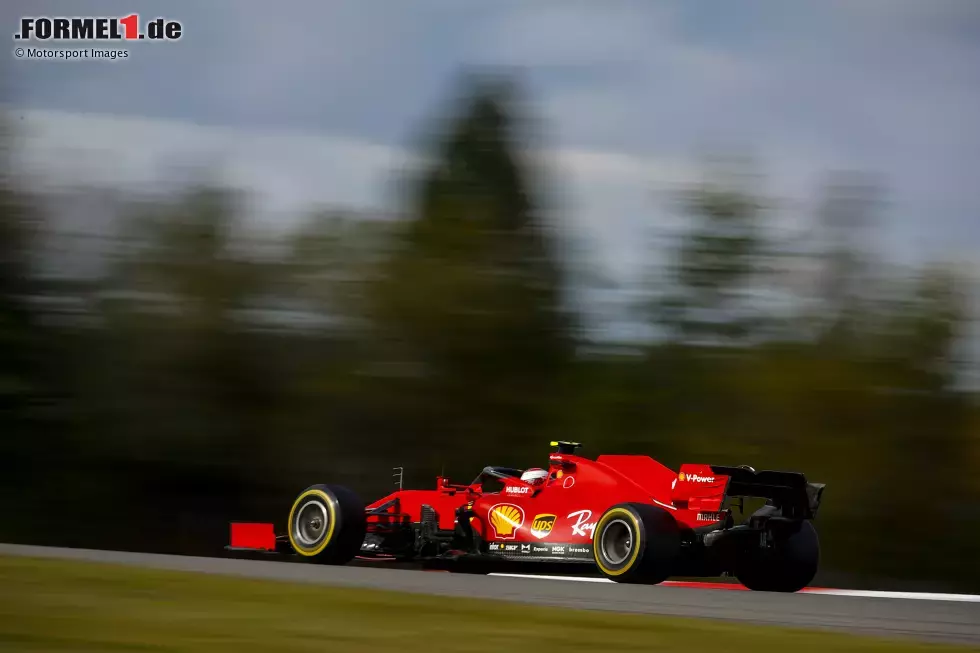
[[[515,96],[492,81],[464,84],[371,289],[378,353],[416,379],[402,426],[447,462],[543,455],[574,354]]]

